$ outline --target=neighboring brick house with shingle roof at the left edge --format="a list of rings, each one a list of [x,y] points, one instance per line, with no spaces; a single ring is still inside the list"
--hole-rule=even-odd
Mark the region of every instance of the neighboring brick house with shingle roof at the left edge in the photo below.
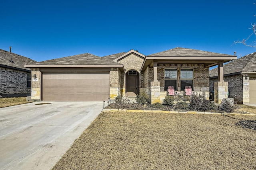
[[[31,96],[31,69],[24,65],[35,62],[0,49],[0,97]]]

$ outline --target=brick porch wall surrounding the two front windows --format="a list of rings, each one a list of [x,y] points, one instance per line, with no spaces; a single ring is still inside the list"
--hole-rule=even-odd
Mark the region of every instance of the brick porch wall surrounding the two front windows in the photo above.
[[[158,63],[157,79],[161,82],[161,91],[164,91],[164,69],[177,69],[178,87],[180,87],[180,69],[193,68],[194,70],[194,91],[209,91],[209,68],[204,68],[204,64],[180,64],[180,63]],[[153,76],[153,75],[152,75]]]

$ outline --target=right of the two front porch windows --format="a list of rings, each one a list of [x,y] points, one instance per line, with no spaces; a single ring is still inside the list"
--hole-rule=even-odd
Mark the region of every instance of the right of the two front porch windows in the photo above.
[[[180,69],[180,90],[184,90],[186,86],[193,88],[193,69],[182,68]]]

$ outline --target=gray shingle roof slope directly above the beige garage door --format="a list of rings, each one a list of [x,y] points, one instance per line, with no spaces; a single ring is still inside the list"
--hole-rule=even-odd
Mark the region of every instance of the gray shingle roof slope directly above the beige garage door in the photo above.
[[[34,63],[35,65],[108,65],[119,64],[114,61],[109,61],[107,58],[92,55],[90,53],[73,55],[70,57],[63,57],[59,59],[52,59]]]

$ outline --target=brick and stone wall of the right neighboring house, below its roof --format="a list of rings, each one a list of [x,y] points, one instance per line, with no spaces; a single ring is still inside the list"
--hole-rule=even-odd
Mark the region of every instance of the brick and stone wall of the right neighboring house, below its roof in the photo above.
[[[249,78],[247,80],[249,82]],[[249,86],[243,87],[243,81],[247,82],[247,80],[243,78],[242,74],[236,74],[236,75],[224,77],[224,81],[228,82],[228,92],[229,92],[228,97],[234,98],[236,95],[236,98],[234,98],[234,101],[236,101],[238,104],[243,103],[243,96],[245,95],[244,97],[246,98],[246,93],[249,94],[249,90],[247,89],[249,88]],[[218,78],[210,79],[210,92],[214,92],[214,82],[218,82]],[[249,98],[249,96],[247,97]]]

